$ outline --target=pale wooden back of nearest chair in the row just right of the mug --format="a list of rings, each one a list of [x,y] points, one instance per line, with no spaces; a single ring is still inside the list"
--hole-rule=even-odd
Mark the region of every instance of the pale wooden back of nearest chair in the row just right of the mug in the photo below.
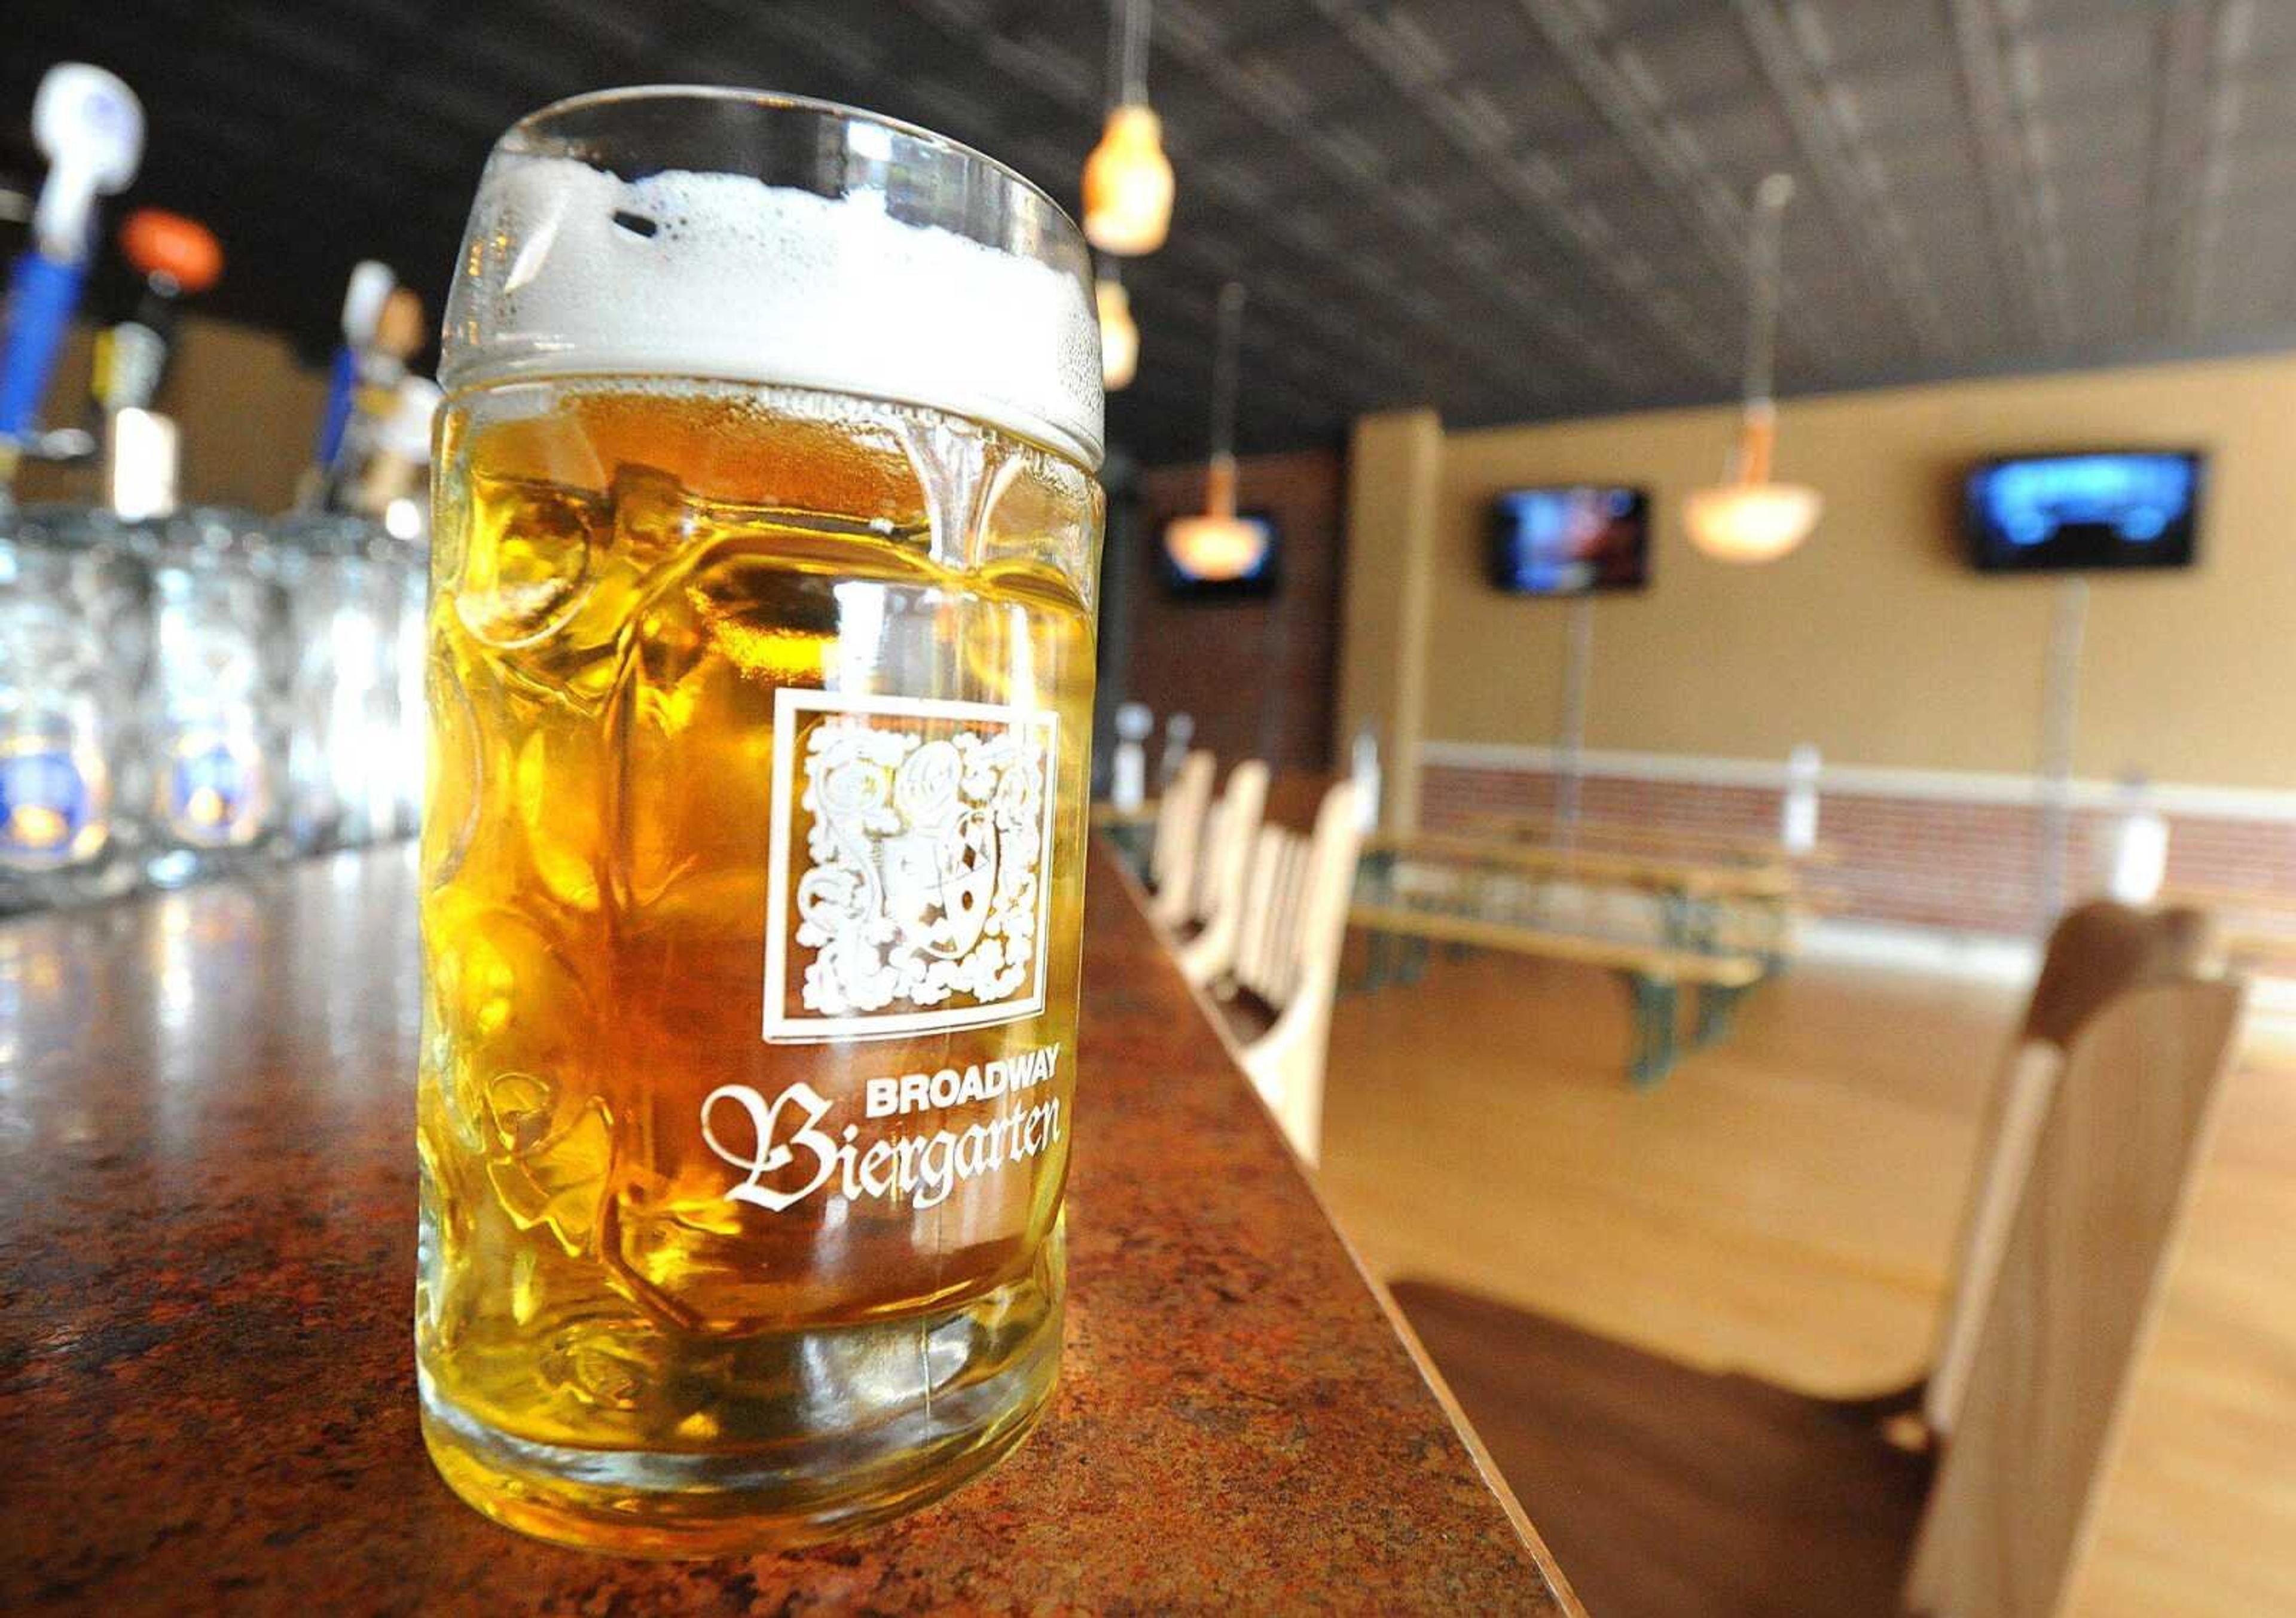
[[[1274,1011],[1235,1055],[1309,1163],[1322,1145],[1322,1069],[1359,846],[1352,781],[1325,791],[1306,837],[1286,825],[1258,827],[1228,972],[1233,988]]]

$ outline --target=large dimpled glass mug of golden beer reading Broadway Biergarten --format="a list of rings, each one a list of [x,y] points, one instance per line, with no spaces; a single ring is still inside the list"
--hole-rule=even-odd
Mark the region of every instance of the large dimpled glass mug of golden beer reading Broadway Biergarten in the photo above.
[[[514,1528],[822,1538],[1052,1393],[1102,496],[1077,228],[840,106],[563,101],[445,315],[422,1430]]]

